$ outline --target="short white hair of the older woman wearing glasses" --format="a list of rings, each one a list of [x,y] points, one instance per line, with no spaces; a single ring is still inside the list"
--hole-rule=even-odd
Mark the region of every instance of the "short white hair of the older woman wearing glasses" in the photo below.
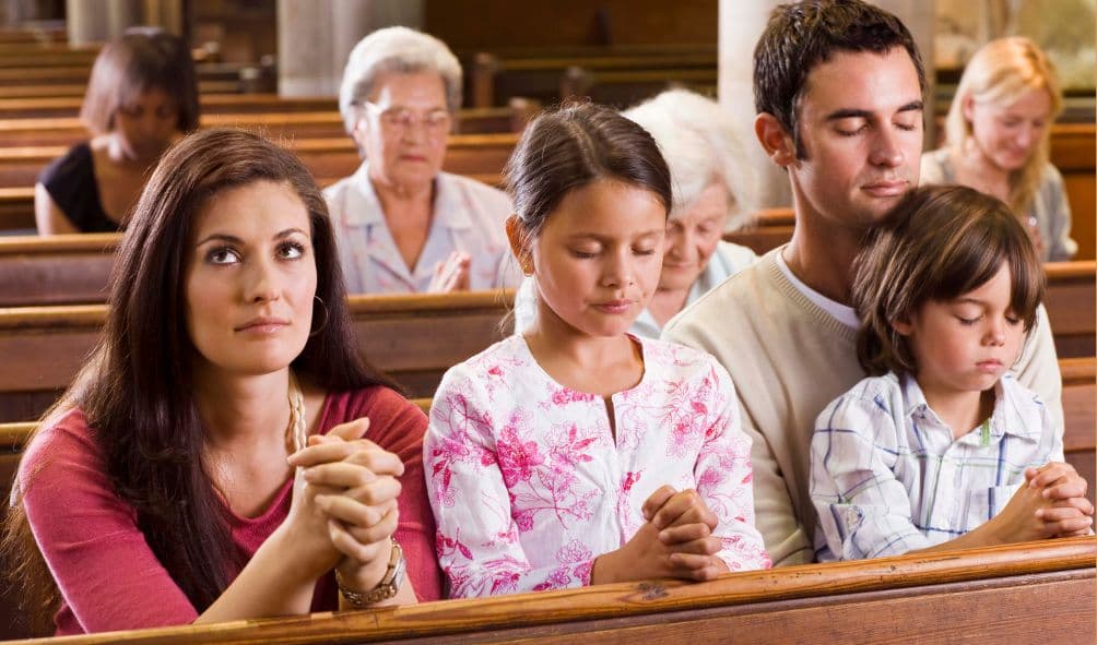
[[[354,129],[360,102],[385,72],[437,72],[445,85],[450,112],[461,107],[461,64],[445,43],[408,27],[385,27],[359,41],[347,58],[339,85],[339,113],[347,131]]]

